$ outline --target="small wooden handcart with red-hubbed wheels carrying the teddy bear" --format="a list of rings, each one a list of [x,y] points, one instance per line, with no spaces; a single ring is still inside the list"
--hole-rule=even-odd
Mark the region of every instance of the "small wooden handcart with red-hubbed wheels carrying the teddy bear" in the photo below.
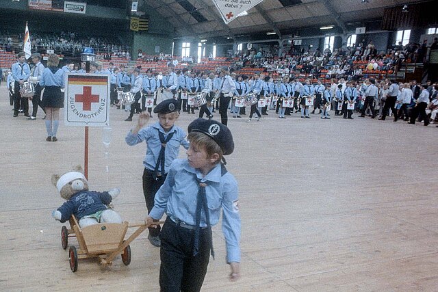
[[[99,223],[81,228],[74,215],[70,217],[70,229],[66,226],[61,228],[62,248],[68,247],[68,237],[76,237],[79,248],[70,246],[68,250],[68,261],[70,269],[77,271],[77,262],[80,258],[99,258],[101,264],[112,265],[112,261],[118,254],[121,254],[125,265],[131,263],[131,243],[138,235],[146,230],[146,224],[123,223]],[[154,224],[159,224],[157,222]],[[127,239],[125,235],[128,228],[138,227],[138,229]]]

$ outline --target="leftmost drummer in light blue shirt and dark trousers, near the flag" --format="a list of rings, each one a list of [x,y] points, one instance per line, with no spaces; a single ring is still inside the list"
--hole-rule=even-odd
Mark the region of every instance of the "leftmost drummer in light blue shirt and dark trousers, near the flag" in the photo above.
[[[24,114],[29,116],[29,100],[27,97],[21,97],[20,85],[22,85],[30,76],[29,65],[25,62],[25,52],[16,55],[17,62],[12,65],[12,77],[14,77],[14,118],[18,116],[20,105],[23,105]]]

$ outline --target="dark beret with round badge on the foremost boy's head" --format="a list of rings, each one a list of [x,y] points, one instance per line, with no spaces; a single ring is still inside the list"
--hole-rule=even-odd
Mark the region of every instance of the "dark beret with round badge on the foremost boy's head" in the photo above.
[[[230,155],[234,150],[233,135],[224,124],[216,120],[204,120],[197,118],[189,124],[188,132],[200,132],[216,142],[224,152],[224,155]]]

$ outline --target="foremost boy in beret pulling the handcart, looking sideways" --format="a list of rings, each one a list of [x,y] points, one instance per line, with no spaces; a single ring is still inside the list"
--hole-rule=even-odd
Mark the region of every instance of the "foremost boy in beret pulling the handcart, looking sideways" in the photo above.
[[[215,120],[194,120],[188,127],[187,159],[176,159],[146,224],[167,218],[159,237],[161,291],[200,291],[210,252],[211,226],[218,223],[227,246],[230,280],[240,278],[240,215],[237,182],[220,163],[234,150],[229,129]]]

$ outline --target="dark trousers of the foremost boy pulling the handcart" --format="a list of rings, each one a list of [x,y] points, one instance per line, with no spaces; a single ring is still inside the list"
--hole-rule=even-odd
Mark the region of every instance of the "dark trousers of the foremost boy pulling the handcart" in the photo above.
[[[193,255],[194,230],[183,228],[168,217],[162,232],[159,255],[160,291],[200,291],[210,259],[211,229],[201,229],[199,252]]]

